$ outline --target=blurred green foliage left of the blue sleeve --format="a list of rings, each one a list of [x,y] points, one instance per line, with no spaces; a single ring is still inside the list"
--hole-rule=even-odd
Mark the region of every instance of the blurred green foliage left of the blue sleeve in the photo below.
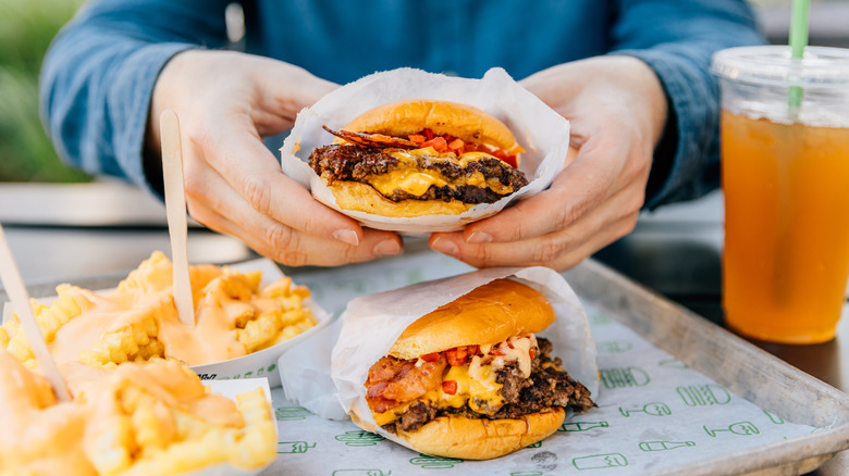
[[[0,181],[86,181],[57,156],[38,117],[38,71],[84,0],[0,0]]]

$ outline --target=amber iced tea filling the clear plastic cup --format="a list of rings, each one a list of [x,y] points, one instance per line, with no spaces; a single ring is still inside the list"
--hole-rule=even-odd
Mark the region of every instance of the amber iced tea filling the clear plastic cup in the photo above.
[[[723,111],[728,325],[763,340],[835,337],[849,276],[849,127]]]

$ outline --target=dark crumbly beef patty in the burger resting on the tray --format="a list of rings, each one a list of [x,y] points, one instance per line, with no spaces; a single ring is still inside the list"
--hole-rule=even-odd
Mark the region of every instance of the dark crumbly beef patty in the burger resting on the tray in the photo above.
[[[398,430],[415,431],[428,422],[443,415],[460,415],[468,418],[515,419],[530,413],[538,413],[554,406],[583,412],[595,403],[590,400],[590,391],[574,380],[564,371],[559,371],[559,358],[550,356],[552,343],[538,337],[539,353],[531,362],[531,374],[525,378],[515,364],[505,365],[497,371],[495,381],[502,385],[501,396],[504,405],[494,414],[485,415],[471,410],[468,403],[459,409],[439,409],[428,402],[409,405],[398,419],[383,425],[383,429],[397,434]]]

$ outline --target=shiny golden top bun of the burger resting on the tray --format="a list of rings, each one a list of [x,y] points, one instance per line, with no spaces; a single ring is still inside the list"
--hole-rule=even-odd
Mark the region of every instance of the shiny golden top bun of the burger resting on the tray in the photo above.
[[[458,346],[495,345],[539,333],[554,320],[554,310],[539,291],[496,279],[420,317],[404,330],[389,354],[409,360]]]

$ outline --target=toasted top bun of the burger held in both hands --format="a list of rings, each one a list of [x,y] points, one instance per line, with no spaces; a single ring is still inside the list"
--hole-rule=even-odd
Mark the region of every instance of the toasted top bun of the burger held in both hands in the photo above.
[[[406,137],[430,128],[467,142],[493,146],[508,154],[524,152],[504,123],[478,108],[448,101],[408,99],[364,112],[343,127],[354,133]]]

